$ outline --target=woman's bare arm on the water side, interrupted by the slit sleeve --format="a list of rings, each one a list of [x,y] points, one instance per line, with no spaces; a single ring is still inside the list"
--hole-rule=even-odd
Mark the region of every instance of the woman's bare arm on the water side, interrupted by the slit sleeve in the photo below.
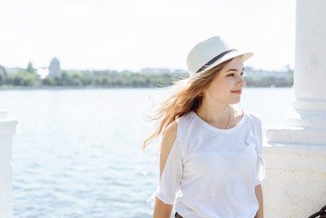
[[[160,154],[160,177],[163,173],[166,160],[176,139],[177,126],[178,123],[176,121],[173,121],[173,123],[169,124],[166,127],[165,132],[163,134]],[[153,213],[154,218],[170,218],[172,210],[173,205],[163,203],[163,201],[156,197],[156,203]]]

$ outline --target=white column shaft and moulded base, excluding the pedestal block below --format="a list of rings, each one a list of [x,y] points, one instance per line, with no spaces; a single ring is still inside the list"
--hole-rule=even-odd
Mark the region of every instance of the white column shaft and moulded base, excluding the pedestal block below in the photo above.
[[[298,0],[292,109],[269,143],[326,145],[326,1]]]

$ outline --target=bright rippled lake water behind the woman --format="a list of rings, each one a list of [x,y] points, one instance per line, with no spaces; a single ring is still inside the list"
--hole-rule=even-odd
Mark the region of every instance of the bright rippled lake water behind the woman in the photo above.
[[[157,89],[2,90],[18,120],[13,143],[16,218],[151,217],[157,144],[139,153]],[[291,108],[291,88],[245,88],[235,106],[262,117],[263,134]]]

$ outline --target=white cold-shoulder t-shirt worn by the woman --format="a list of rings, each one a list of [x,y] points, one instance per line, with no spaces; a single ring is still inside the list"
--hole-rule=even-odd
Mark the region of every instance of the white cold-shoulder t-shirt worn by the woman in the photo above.
[[[242,110],[242,120],[218,129],[190,112],[177,119],[177,136],[155,193],[184,218],[253,218],[255,186],[265,177],[262,121]],[[181,195],[177,193],[181,191]]]

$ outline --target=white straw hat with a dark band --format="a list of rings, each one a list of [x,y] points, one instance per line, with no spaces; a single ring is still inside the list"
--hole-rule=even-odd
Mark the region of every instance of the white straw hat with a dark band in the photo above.
[[[187,57],[188,72],[190,76],[193,76],[241,55],[242,61],[245,62],[252,56],[252,53],[239,52],[227,45],[221,36],[215,35],[194,45]]]

